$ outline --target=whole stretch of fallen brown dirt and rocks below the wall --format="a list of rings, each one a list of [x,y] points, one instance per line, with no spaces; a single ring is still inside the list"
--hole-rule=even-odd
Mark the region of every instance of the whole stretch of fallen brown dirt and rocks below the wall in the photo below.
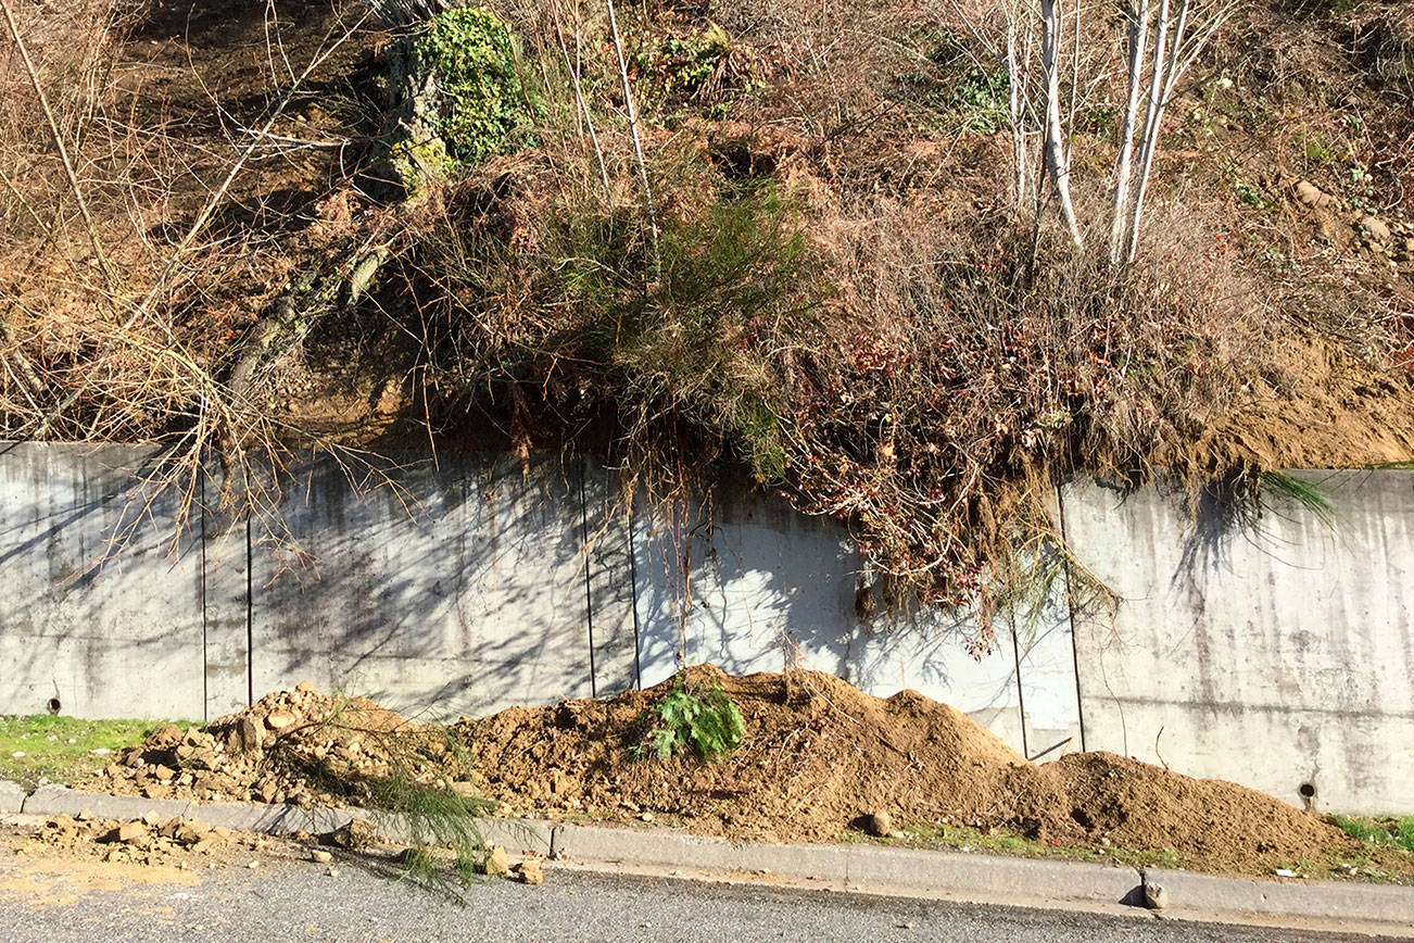
[[[1249,875],[1366,868],[1414,881],[1414,857],[1372,848],[1253,789],[1106,752],[1031,763],[946,704],[915,691],[871,697],[817,672],[690,669],[686,683],[720,684],[732,698],[745,734],[717,762],[663,762],[648,749],[652,708],[676,683],[452,727],[301,686],[206,731],[158,730],[79,787],[376,804],[387,795],[379,783],[406,779],[489,797],[498,814],[658,821],[732,840],[836,841],[887,813],[891,830],[1015,836],[1032,853]]]

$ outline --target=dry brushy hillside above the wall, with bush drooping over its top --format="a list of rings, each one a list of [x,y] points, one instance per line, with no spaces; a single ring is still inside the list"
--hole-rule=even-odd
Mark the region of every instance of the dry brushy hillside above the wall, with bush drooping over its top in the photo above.
[[[1253,505],[1414,455],[1393,0],[1234,8],[1133,263],[1097,247],[1109,13],[1045,93],[995,57],[1007,3],[7,4],[6,437],[161,441],[189,495],[216,452],[246,510],[297,444],[738,475],[978,650],[1058,546],[1048,484]],[[1018,95],[1068,102],[1065,212]]]

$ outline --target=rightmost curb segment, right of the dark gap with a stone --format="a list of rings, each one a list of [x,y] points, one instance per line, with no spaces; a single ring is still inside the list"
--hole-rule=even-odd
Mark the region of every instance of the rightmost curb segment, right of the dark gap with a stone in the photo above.
[[[1145,884],[1164,889],[1164,913],[1234,913],[1349,919],[1414,930],[1414,888],[1336,881],[1247,881],[1210,874],[1145,868]]]

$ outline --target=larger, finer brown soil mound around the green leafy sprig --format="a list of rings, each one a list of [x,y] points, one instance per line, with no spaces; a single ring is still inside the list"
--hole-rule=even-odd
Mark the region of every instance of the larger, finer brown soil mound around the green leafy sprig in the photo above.
[[[1113,754],[1036,766],[964,714],[915,691],[864,694],[817,672],[734,677],[701,666],[747,725],[717,763],[635,759],[660,684],[608,701],[510,708],[462,721],[472,780],[522,812],[642,813],[700,834],[829,841],[860,816],[1010,828],[1039,841],[1176,854],[1191,867],[1266,871],[1349,840],[1271,796]]]

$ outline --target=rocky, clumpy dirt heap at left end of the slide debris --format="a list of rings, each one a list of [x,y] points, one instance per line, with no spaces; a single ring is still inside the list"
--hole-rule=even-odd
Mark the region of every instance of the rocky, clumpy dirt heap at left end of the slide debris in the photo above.
[[[300,684],[206,730],[160,727],[79,787],[148,799],[363,804],[369,787],[387,778],[450,786],[461,768],[441,728]]]

